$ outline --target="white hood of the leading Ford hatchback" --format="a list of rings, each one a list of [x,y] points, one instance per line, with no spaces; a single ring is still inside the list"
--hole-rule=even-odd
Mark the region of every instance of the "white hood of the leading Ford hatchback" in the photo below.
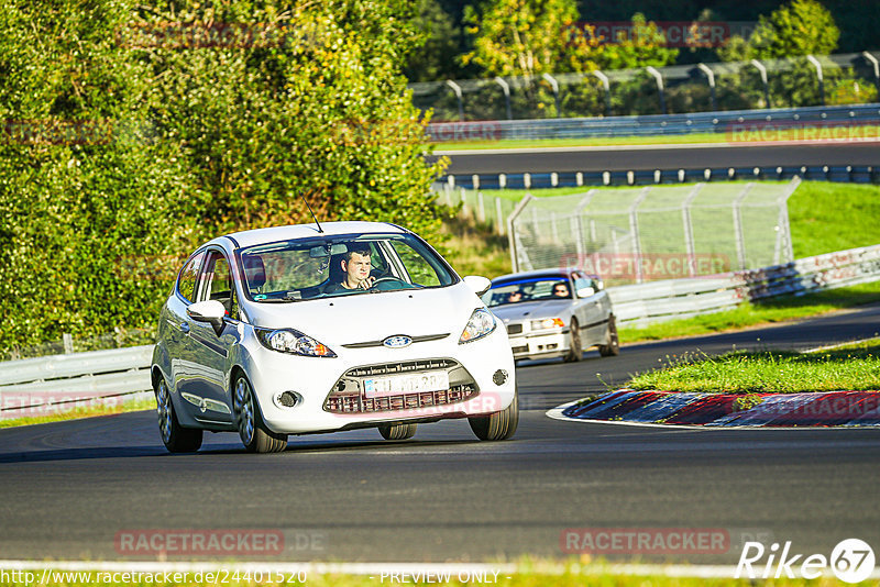
[[[449,333],[459,336],[483,304],[464,283],[438,289],[359,294],[292,303],[251,303],[251,323],[292,328],[330,346],[386,336]]]

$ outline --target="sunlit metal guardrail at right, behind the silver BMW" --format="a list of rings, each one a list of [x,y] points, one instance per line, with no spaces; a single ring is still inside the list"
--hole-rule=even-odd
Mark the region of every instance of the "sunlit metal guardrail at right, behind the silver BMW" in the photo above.
[[[645,325],[734,308],[744,301],[803,295],[880,280],[880,245],[851,248],[707,278],[608,288],[617,321]]]

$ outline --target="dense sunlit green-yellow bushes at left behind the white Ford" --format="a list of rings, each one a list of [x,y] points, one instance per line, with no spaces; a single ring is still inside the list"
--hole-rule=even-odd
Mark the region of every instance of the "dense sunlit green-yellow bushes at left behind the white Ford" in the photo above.
[[[322,219],[439,235],[407,19],[402,0],[0,4],[2,346],[151,325],[180,256],[310,221],[300,192]],[[199,40],[218,23],[234,35]]]

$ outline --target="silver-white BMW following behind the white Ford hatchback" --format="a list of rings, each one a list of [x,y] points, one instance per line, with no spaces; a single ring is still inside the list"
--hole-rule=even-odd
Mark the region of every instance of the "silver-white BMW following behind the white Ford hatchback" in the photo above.
[[[602,356],[620,353],[612,300],[597,275],[578,268],[504,275],[483,301],[504,321],[516,359],[580,361],[592,346]]]

